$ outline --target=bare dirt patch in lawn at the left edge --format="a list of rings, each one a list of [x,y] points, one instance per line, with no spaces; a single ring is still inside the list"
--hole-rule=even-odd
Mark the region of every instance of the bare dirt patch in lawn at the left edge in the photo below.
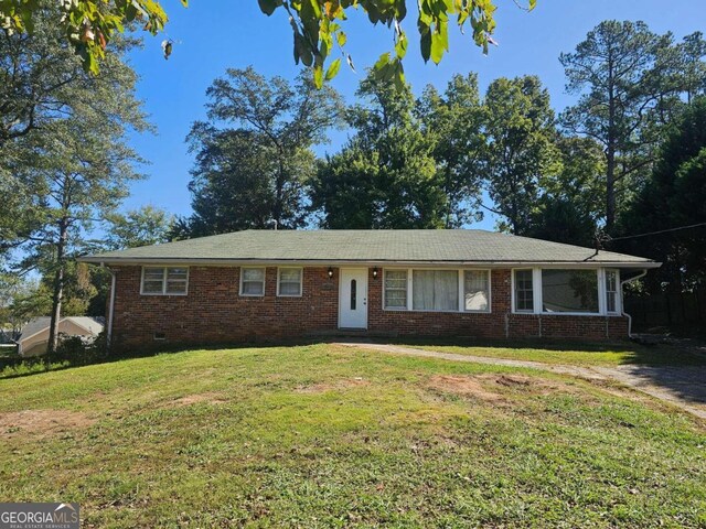
[[[20,435],[46,438],[90,427],[95,419],[78,411],[24,410],[0,413],[0,434],[4,439]]]

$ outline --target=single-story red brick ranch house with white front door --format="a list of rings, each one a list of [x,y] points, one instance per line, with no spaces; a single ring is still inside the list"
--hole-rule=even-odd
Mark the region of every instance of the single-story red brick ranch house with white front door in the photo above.
[[[482,230],[247,230],[81,259],[113,272],[111,344],[340,334],[625,338],[659,262]]]

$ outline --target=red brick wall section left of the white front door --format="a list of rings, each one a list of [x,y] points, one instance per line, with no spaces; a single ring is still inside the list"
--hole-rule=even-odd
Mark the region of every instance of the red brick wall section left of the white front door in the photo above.
[[[188,295],[141,295],[140,267],[116,269],[113,339],[118,347],[167,342],[224,343],[335,330],[338,270],[306,268],[301,298],[278,298],[277,268],[267,268],[265,295],[240,296],[237,267],[191,267]]]

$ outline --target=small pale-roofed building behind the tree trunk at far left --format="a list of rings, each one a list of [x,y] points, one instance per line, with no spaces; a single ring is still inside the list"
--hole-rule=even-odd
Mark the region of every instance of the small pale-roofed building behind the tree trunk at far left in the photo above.
[[[49,345],[49,326],[51,317],[35,317],[24,327],[18,338],[20,356],[44,355]],[[81,336],[85,342],[96,339],[103,332],[104,325],[93,317],[66,316],[58,321],[58,333],[65,336]]]

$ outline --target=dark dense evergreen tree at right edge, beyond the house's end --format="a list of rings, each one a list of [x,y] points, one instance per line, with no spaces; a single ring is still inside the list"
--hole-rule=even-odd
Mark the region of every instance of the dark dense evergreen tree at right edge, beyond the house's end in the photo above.
[[[611,246],[663,262],[649,290],[683,291],[706,281],[706,97],[693,100],[670,130],[650,180],[621,216]]]

